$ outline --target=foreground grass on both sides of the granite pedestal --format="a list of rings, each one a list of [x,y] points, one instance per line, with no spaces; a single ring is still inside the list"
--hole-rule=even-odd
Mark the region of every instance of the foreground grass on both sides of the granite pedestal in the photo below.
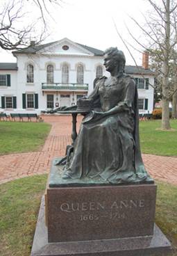
[[[47,175],[17,179],[0,186],[0,255],[29,256]],[[177,186],[158,182],[156,223],[177,256]]]

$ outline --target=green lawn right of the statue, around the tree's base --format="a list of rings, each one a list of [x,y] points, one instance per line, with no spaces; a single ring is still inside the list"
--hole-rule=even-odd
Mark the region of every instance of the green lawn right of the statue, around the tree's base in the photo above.
[[[161,120],[140,122],[142,153],[161,156],[177,156],[177,120],[171,120],[174,131],[159,130]]]

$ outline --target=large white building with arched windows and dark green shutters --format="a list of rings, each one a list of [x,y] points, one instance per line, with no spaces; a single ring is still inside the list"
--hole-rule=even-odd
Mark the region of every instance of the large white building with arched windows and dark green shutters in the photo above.
[[[40,113],[58,106],[76,104],[78,97],[94,88],[94,79],[109,76],[103,66],[103,51],[64,38],[45,45],[13,51],[17,63],[0,63],[0,111]],[[126,66],[139,91],[140,113],[153,111],[154,74],[148,68]]]

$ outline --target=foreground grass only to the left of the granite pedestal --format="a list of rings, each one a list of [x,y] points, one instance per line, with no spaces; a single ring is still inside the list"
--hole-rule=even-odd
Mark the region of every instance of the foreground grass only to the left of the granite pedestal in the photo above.
[[[17,179],[0,186],[0,255],[27,256],[47,175]]]

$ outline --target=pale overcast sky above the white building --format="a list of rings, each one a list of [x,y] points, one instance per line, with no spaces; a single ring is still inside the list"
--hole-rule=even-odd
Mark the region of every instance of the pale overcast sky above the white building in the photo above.
[[[0,0],[0,3],[1,1],[3,0]],[[69,38],[74,42],[101,50],[108,47],[118,47],[118,49],[124,51],[126,64],[135,65],[133,58],[117,34],[117,31],[119,31],[122,38],[133,46],[127,45],[137,65],[142,64],[141,52],[143,49],[130,36],[126,26],[137,40],[143,40],[142,33],[130,17],[134,17],[144,26],[142,13],[146,15],[147,10],[149,10],[146,0],[62,1],[61,6],[48,7],[51,15],[51,18],[49,17],[47,21],[50,35],[44,43]],[[36,7],[34,8],[29,2],[28,11],[33,14]],[[28,22],[28,19],[25,22]],[[10,52],[0,50],[0,62],[16,62],[16,58]]]

